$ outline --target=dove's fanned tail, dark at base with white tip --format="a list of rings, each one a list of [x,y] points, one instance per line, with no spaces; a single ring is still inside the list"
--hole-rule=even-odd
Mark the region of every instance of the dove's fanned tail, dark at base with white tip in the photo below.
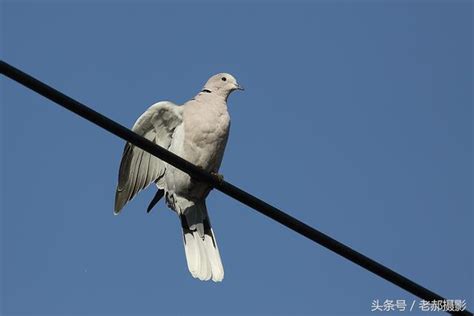
[[[224,267],[205,202],[199,201],[186,208],[180,219],[189,272],[199,280],[222,281]]]

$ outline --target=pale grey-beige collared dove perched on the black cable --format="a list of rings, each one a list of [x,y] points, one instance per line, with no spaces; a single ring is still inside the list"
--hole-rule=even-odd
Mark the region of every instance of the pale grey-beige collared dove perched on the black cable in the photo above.
[[[202,90],[183,105],[161,101],[150,106],[132,130],[197,167],[217,176],[229,138],[227,99],[243,90],[234,76],[211,76]],[[114,214],[154,183],[157,192],[147,212],[161,198],[179,216],[189,272],[202,281],[224,279],[216,236],[206,207],[211,187],[148,152],[126,143],[119,167]]]

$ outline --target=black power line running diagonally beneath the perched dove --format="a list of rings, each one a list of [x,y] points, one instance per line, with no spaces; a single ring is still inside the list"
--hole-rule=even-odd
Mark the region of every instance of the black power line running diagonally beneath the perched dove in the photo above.
[[[351,249],[350,247],[338,242],[328,235],[308,226],[307,224],[297,220],[296,218],[280,211],[276,207],[260,200],[259,198],[239,189],[238,187],[220,180],[218,177],[196,167],[190,162],[179,156],[169,152],[168,150],[156,145],[155,143],[135,134],[133,131],[112,121],[106,116],[92,110],[84,104],[66,96],[58,90],[40,82],[21,70],[0,61],[1,73],[10,79],[17,81],[25,87],[39,93],[40,95],[56,102],[66,109],[76,113],[86,120],[102,127],[110,133],[134,144],[137,147],[149,152],[150,154],[160,158],[161,160],[175,166],[178,169],[190,174],[194,178],[207,182],[219,191],[233,197],[243,204],[259,211],[260,213],[276,220],[280,224],[294,230],[295,232],[306,236],[312,241],[326,247],[327,249],[337,253],[340,256],[358,264],[364,269],[371,271],[379,277],[403,288],[404,290],[426,300],[426,301],[445,301],[445,299],[428,290],[427,288],[411,281],[403,275],[383,266],[382,264],[370,259],[367,256]],[[460,312],[450,312],[451,314],[472,315],[471,312],[465,310]]]

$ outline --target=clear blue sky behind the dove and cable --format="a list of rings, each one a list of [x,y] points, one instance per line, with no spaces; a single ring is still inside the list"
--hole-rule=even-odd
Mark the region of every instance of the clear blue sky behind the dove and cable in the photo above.
[[[2,1],[1,55],[132,126],[230,72],[226,180],[450,299],[473,293],[472,1]],[[374,315],[416,299],[213,191],[223,283],[123,141],[1,79],[3,315]],[[417,307],[412,314],[426,315]],[[379,312],[380,314],[380,312]],[[403,314],[403,313],[402,313]]]

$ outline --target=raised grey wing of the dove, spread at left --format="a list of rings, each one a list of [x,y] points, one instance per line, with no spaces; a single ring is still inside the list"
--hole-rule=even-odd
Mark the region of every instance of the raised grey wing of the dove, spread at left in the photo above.
[[[176,127],[183,121],[182,111],[182,107],[172,102],[158,102],[138,118],[132,130],[168,149]],[[125,144],[115,192],[115,214],[140,190],[157,181],[164,173],[165,163],[162,160],[130,143]]]

